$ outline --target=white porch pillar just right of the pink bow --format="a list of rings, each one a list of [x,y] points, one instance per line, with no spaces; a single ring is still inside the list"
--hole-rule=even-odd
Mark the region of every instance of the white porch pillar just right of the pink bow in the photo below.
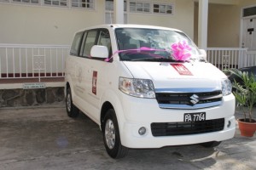
[[[199,0],[198,46],[207,50],[208,0]]]

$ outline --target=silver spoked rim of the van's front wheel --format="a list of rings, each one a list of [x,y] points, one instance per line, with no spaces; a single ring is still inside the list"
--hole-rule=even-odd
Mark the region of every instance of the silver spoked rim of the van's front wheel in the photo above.
[[[113,149],[115,144],[115,130],[113,121],[108,119],[105,125],[105,139],[109,149]]]

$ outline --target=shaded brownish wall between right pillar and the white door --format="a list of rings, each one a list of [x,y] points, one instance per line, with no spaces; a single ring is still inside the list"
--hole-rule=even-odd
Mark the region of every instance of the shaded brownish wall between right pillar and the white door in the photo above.
[[[237,5],[209,5],[208,47],[238,48],[240,14]]]

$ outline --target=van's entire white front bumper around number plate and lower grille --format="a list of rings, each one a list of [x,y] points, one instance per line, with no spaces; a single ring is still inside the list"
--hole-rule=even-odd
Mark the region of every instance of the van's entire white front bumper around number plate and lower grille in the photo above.
[[[235,135],[235,98],[232,94],[223,98],[222,105],[200,110],[160,109],[155,99],[137,99],[124,94],[122,102],[124,116],[119,116],[121,143],[128,148],[160,148],[170,145],[199,144],[210,141],[223,141]],[[177,136],[154,137],[152,122],[183,122],[184,113],[206,112],[207,120],[224,118],[224,129],[218,132],[198,133]],[[146,128],[140,135],[138,129]]]

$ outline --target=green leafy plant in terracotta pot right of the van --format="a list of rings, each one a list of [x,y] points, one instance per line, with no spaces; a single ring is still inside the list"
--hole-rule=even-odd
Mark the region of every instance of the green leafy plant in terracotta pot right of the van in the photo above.
[[[253,137],[256,131],[256,121],[253,119],[253,105],[256,104],[256,79],[246,71],[231,69],[237,79],[233,82],[233,94],[236,104],[241,108],[244,117],[237,120],[242,136]]]

